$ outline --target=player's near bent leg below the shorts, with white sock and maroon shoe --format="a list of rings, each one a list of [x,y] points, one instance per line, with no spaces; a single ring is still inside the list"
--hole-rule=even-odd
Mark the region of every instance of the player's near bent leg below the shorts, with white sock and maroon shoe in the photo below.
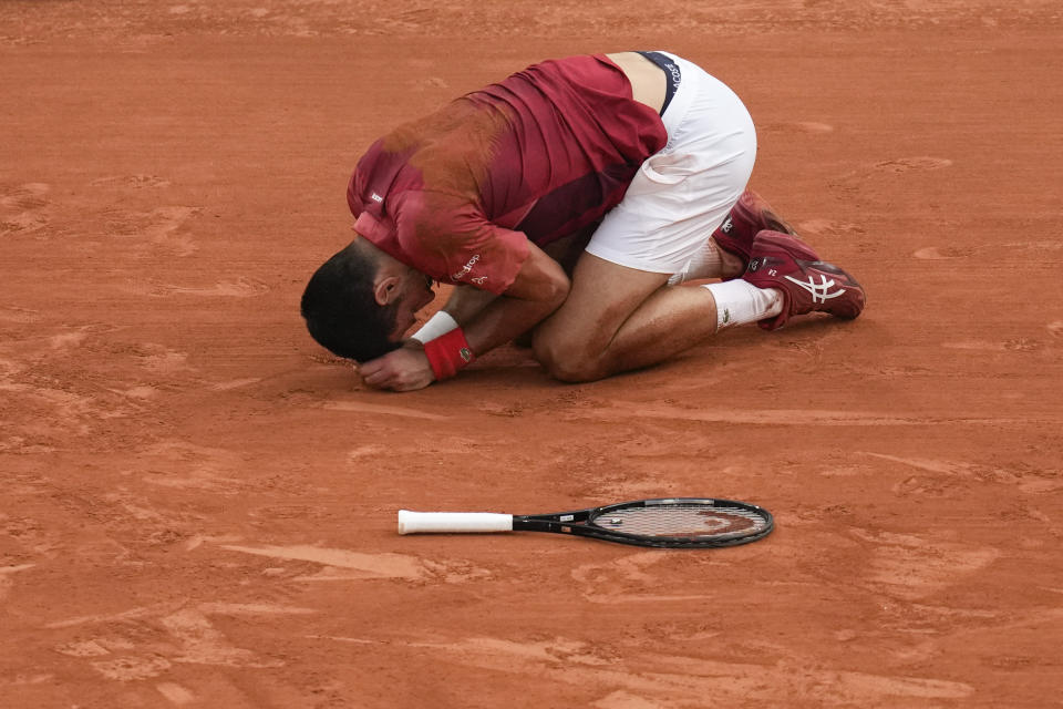
[[[742,278],[693,287],[585,253],[568,299],[535,331],[536,357],[557,379],[592,381],[654,364],[723,328],[771,330],[795,315],[853,319],[864,310],[856,279],[793,234],[760,232],[749,258]]]

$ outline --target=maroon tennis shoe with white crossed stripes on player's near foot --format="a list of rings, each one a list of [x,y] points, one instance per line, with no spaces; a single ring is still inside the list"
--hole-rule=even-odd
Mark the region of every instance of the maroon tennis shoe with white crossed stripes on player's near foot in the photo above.
[[[793,316],[806,312],[852,319],[860,315],[866,300],[864,288],[853,276],[819,260],[801,239],[780,232],[756,235],[742,278],[757,288],[776,288],[783,294],[783,311],[757,323],[765,330],[781,328]]]

